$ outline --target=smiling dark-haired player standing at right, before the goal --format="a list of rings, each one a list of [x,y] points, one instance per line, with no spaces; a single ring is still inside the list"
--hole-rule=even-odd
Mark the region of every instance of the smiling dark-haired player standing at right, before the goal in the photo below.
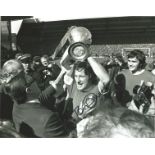
[[[116,77],[117,98],[123,106],[128,106],[133,96],[135,88],[142,82],[148,86],[154,86],[155,76],[145,70],[146,58],[142,51],[133,50],[128,54],[128,69],[120,72]],[[155,104],[155,103],[154,103]]]

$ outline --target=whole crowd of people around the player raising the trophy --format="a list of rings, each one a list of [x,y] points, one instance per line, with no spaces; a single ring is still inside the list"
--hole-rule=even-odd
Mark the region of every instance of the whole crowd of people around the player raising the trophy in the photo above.
[[[144,53],[130,51],[127,63],[116,54],[102,65],[89,52],[87,28],[67,34],[59,64],[29,53],[3,64],[0,136],[155,137],[155,69],[145,69]]]

